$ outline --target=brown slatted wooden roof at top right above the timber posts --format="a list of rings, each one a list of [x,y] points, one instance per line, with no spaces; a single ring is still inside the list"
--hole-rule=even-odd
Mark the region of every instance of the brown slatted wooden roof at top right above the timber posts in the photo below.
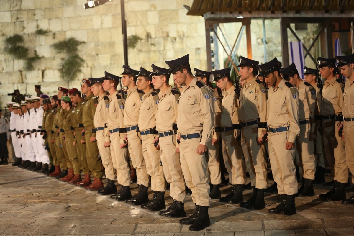
[[[354,17],[354,0],[194,0],[187,15],[224,17]]]

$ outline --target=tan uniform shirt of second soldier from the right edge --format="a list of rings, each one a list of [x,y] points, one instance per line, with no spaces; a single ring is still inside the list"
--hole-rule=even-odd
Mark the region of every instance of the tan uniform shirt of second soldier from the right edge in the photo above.
[[[322,108],[321,115],[335,115],[342,112],[344,105],[341,84],[333,77],[330,81],[326,80],[322,89]]]

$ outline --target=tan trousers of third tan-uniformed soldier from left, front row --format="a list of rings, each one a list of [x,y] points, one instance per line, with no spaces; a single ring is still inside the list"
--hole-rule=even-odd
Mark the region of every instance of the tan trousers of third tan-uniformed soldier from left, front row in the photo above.
[[[136,169],[136,177],[138,184],[142,184],[145,187],[149,186],[149,176],[146,170],[146,163],[143,157],[142,145],[140,143],[141,136],[136,130],[127,132],[128,136],[128,148],[130,159],[133,167]]]

